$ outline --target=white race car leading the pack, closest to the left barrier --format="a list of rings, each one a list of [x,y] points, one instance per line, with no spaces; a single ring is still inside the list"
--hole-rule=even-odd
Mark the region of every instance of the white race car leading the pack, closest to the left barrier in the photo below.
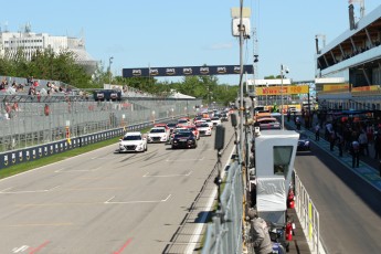
[[[119,139],[119,152],[147,151],[147,138],[140,131],[127,133]]]

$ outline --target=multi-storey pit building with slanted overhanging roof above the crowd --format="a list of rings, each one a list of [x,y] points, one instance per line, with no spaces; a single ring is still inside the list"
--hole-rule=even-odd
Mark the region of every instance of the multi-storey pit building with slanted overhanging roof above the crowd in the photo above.
[[[349,28],[328,45],[316,35],[316,93],[319,108],[381,109],[381,6],[354,19],[349,1]],[[322,46],[319,47],[319,40]],[[321,43],[321,41],[320,41]]]

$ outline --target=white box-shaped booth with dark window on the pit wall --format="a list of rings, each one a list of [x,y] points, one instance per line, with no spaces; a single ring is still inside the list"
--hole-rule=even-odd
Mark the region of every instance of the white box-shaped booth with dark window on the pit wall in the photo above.
[[[295,130],[262,130],[255,138],[256,208],[264,220],[285,223],[298,138]]]

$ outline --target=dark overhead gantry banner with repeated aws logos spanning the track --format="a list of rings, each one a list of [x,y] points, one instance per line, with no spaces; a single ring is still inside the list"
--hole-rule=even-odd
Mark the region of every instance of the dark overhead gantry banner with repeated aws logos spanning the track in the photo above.
[[[123,68],[123,77],[229,75],[240,73],[240,65]],[[253,65],[243,65],[243,73],[253,74]]]

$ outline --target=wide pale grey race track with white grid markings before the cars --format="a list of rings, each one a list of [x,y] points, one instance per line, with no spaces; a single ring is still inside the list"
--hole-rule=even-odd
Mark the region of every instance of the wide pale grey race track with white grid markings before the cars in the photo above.
[[[232,136],[226,128],[223,163]],[[0,253],[162,253],[215,167],[214,131],[197,149],[149,144],[142,154],[116,154],[116,148],[1,180]]]

